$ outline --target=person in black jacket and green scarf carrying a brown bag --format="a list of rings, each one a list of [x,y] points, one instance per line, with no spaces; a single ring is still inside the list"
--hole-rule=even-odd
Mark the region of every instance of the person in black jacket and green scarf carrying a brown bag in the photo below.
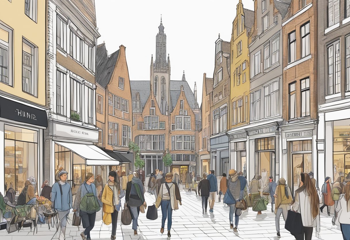
[[[130,209],[134,236],[138,236],[137,221],[140,214],[140,206],[144,205],[145,208],[147,206],[144,196],[144,187],[138,171],[133,172],[132,180],[126,185],[125,201]]]

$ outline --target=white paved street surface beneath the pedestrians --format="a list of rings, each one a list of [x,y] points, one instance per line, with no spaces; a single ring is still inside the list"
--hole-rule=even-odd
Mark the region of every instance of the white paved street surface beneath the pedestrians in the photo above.
[[[154,195],[145,194],[147,206],[153,205],[155,202]],[[182,206],[179,210],[173,211],[173,225],[171,239],[181,240],[249,240],[249,239],[271,239],[277,240],[275,229],[275,214],[270,210],[263,211],[261,215],[257,215],[252,209],[244,212],[240,216],[238,232],[233,233],[229,226],[229,207],[224,207],[222,202],[216,202],[214,213],[208,211],[208,215],[202,215],[202,202],[199,196],[194,192],[181,191]],[[124,204],[124,201],[123,201]],[[270,205],[268,205],[269,207]],[[208,209],[209,210],[209,209]],[[146,210],[147,211],[147,210]],[[140,213],[139,216],[139,236],[134,236],[134,232],[130,226],[120,226],[120,215],[118,216],[117,240],[137,240],[137,239],[170,239],[167,237],[167,229],[164,233],[160,233],[161,227],[161,210],[158,210],[158,219],[152,221],[146,218],[146,213]],[[342,239],[339,226],[332,226],[331,216],[321,213],[321,232],[316,237],[313,233],[313,240],[317,239]],[[71,222],[72,214],[70,214]],[[166,222],[167,224],[167,222]],[[283,218],[280,218],[281,239],[295,239],[283,227]],[[122,228],[121,228],[122,227]],[[110,239],[112,225],[106,226],[102,222],[101,211],[97,214],[95,227],[91,231],[91,239]],[[80,240],[80,232],[82,227],[67,225],[66,240]],[[25,240],[57,240],[58,234],[55,234],[56,228],[48,229],[47,224],[38,227],[37,233],[33,235],[30,228],[21,229],[19,232],[8,234],[6,230],[0,231],[1,240],[19,240],[25,236]]]

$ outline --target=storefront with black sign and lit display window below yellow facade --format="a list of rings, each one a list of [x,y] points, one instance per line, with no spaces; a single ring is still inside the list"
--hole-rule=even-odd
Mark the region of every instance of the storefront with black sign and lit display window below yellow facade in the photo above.
[[[0,96],[0,192],[13,188],[18,196],[27,179],[34,178],[40,194],[43,175],[43,129],[47,128],[46,109],[8,96]],[[4,194],[4,195],[5,195]]]

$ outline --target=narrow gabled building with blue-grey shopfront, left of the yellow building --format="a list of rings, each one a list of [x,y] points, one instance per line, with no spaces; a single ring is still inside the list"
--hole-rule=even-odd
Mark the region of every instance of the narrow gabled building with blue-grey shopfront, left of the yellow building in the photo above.
[[[216,175],[229,173],[230,42],[215,42],[214,85],[210,93],[210,167]]]

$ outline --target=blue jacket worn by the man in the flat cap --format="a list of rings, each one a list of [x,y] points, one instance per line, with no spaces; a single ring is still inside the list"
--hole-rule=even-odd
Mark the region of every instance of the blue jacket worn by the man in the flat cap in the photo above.
[[[51,201],[54,202],[54,208],[57,211],[67,211],[72,208],[73,198],[70,184],[66,183],[62,186],[62,196],[59,189],[59,182],[55,182],[51,189]]]

